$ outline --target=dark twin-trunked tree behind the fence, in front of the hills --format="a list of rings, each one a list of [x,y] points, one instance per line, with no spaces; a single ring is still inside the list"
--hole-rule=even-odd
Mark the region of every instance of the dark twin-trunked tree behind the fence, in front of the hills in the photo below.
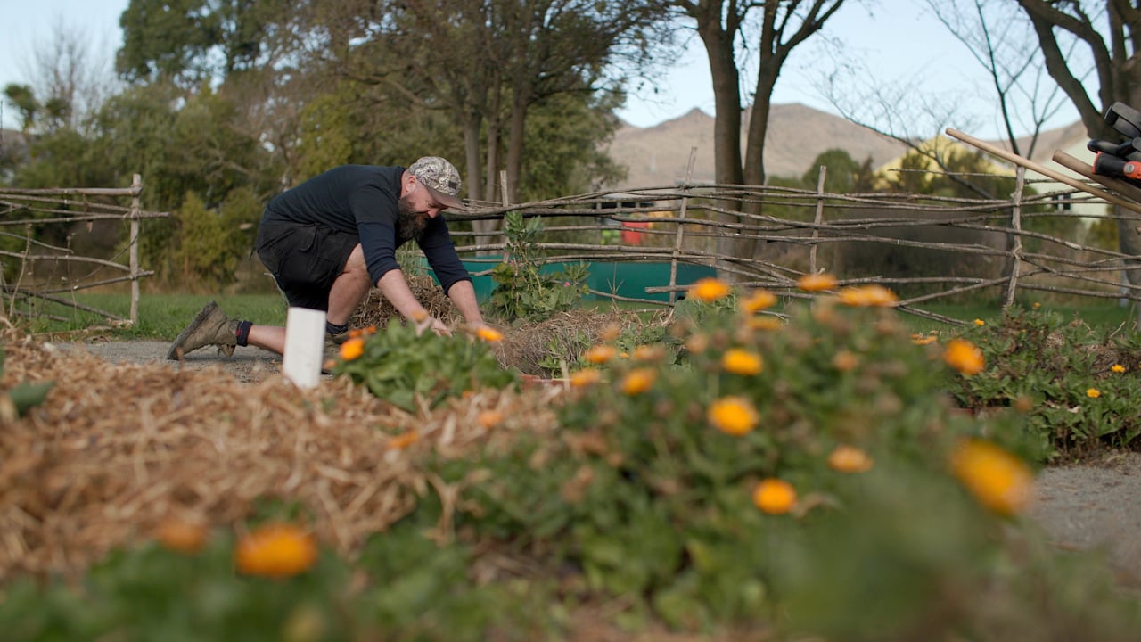
[[[772,89],[788,54],[818,32],[844,0],[674,0],[674,6],[696,22],[705,46],[717,110],[713,125],[714,176],[719,184],[763,185],[764,139],[768,134]],[[756,18],[756,13],[760,17]],[[755,26],[753,22],[758,22]],[[741,147],[742,96],[738,38],[755,49],[758,74],[753,104]],[[760,206],[752,206],[753,212]],[[733,216],[721,216],[734,219]],[[733,236],[719,239],[722,255],[751,257],[755,241]]]

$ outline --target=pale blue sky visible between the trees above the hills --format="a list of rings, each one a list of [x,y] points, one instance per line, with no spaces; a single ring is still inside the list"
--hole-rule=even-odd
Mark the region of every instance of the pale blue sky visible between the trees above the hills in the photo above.
[[[119,16],[128,3],[129,0],[0,0],[0,24],[6,25],[3,32],[10,35],[0,40],[0,88],[31,81],[34,51],[43,50],[60,25],[89,39],[91,61],[110,65],[122,43]],[[842,55],[874,70],[860,77],[863,86],[914,86],[919,91],[955,103],[964,115],[961,122],[948,126],[977,137],[997,137],[997,110],[986,89],[981,67],[931,15],[923,0],[849,0],[826,23],[824,35],[841,42],[842,49],[828,51],[819,39],[815,42],[810,39],[794,49],[774,91],[775,104],[801,103],[839,113],[819,87],[822,75],[831,69],[828,61],[833,55]],[[748,77],[747,71],[743,77]],[[712,115],[709,67],[696,35],[689,39],[681,59],[653,89],[632,91],[618,117],[637,127],[652,127],[694,109]],[[1076,120],[1077,112],[1066,103],[1047,128]],[[3,107],[2,123],[17,127],[10,107]]]

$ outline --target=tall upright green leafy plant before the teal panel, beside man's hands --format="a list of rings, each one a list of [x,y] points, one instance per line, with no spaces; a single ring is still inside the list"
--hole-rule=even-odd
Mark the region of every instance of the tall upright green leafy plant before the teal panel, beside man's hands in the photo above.
[[[543,230],[539,217],[525,219],[519,211],[504,217],[507,257],[492,268],[492,290],[485,307],[505,322],[520,319],[541,321],[574,307],[589,292],[585,264],[566,266],[565,272],[544,272],[536,238]]]

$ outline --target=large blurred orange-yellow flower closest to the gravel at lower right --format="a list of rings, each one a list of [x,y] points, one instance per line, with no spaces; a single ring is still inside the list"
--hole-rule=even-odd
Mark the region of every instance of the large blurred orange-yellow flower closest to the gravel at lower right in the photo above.
[[[1010,515],[1030,503],[1034,475],[1027,465],[988,441],[960,443],[950,458],[952,471],[987,508]]]

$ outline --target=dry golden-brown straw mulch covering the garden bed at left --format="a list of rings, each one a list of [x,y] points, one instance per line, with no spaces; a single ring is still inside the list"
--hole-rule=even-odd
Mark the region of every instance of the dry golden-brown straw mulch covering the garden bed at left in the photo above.
[[[5,332],[0,388],[54,380],[46,402],[0,426],[0,581],[74,576],[177,516],[241,529],[254,501],[300,503],[325,544],[353,556],[372,533],[458,488],[423,466],[519,430],[553,430],[559,387],[485,391],[410,415],[350,382],[298,390],[281,376],[243,384],[224,370],[115,364]],[[495,410],[491,430],[479,416]],[[408,439],[415,432],[418,439]],[[411,443],[410,443],[411,442]]]

